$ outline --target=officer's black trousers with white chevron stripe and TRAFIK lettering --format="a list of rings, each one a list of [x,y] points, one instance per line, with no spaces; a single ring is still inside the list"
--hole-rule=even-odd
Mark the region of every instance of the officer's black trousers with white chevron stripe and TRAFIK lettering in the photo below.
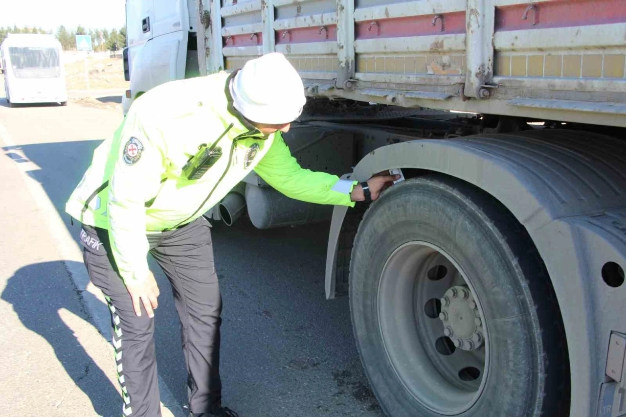
[[[83,255],[91,282],[106,296],[125,415],[160,416],[154,319],[141,316],[111,255],[108,231],[83,225]],[[167,275],[182,326],[190,409],[205,413],[221,403],[222,297],[213,263],[210,224],[204,217],[180,229],[149,234],[150,253]],[[156,314],[158,314],[158,309]]]

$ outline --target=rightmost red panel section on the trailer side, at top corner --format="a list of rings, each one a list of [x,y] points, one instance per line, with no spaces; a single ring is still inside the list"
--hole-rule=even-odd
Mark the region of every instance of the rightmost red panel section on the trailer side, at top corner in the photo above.
[[[626,22],[624,0],[555,0],[496,8],[495,29],[515,31],[622,22]]]

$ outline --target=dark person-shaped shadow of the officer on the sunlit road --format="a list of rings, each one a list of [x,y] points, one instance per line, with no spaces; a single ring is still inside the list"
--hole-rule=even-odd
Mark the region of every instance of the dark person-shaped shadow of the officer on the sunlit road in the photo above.
[[[95,299],[90,292],[79,291],[71,282],[64,281],[69,280],[65,268],[61,261],[23,267],[9,278],[0,298],[13,306],[25,327],[48,341],[59,363],[63,364],[76,386],[90,398],[98,415],[119,414],[119,394],[115,387],[59,315],[61,310],[66,309],[90,321],[83,297]],[[106,307],[103,305],[103,308]],[[62,400],[59,398],[59,401]]]

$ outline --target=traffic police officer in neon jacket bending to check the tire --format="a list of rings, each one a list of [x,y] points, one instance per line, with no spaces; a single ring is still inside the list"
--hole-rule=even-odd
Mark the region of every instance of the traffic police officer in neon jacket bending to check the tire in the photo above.
[[[148,252],[172,285],[190,415],[235,417],[222,407],[222,298],[202,214],[251,170],[291,198],[347,206],[376,199],[394,180],[372,177],[361,185],[301,168],[281,132],[304,103],[297,71],[270,53],[231,75],[153,88],[95,150],[66,211],[83,224],[85,265],[111,311],[124,415],[161,415],[153,341],[159,289]]]

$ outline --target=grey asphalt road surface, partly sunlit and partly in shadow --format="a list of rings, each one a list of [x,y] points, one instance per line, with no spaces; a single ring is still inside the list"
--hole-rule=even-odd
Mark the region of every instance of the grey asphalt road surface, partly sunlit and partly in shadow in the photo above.
[[[0,98],[0,416],[118,416],[108,310],[89,286],[64,202],[120,113]],[[242,417],[382,416],[362,373],[346,298],[324,299],[328,225],[213,227],[223,296],[225,405]],[[167,279],[156,349],[165,413],[186,403]],[[105,336],[102,336],[102,333]]]

